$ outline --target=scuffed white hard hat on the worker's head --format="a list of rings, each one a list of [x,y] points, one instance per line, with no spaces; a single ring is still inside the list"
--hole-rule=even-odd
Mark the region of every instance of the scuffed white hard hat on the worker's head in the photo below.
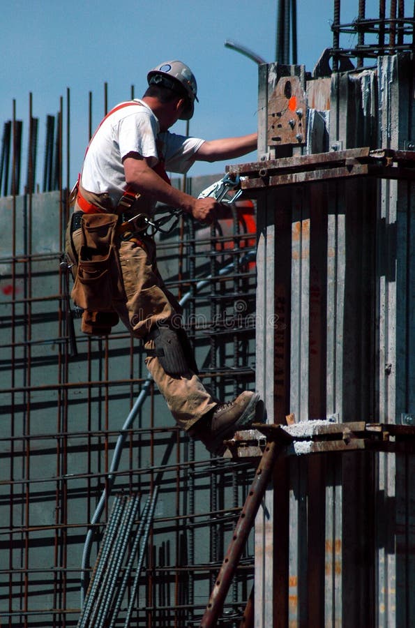
[[[151,84],[165,85],[169,89],[177,87],[177,83],[186,91],[187,105],[181,114],[181,120],[190,120],[195,110],[195,100],[197,100],[197,83],[192,70],[181,61],[164,61],[159,66],[150,70],[147,75],[147,82]],[[199,102],[199,100],[197,100]]]

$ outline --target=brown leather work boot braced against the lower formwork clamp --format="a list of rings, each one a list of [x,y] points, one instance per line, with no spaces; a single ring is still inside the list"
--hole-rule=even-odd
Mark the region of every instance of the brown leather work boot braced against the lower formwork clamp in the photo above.
[[[245,390],[234,401],[218,403],[197,421],[190,435],[201,440],[212,454],[219,455],[225,451],[225,438],[255,419],[258,401],[259,394]]]

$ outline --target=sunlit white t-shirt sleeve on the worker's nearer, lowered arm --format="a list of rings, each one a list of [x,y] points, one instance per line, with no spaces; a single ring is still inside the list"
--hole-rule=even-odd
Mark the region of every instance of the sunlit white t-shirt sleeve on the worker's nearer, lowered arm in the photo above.
[[[142,157],[153,158],[151,165],[158,161],[156,133],[151,117],[145,111],[123,117],[117,124],[118,144],[121,160],[128,153],[138,153]]]

